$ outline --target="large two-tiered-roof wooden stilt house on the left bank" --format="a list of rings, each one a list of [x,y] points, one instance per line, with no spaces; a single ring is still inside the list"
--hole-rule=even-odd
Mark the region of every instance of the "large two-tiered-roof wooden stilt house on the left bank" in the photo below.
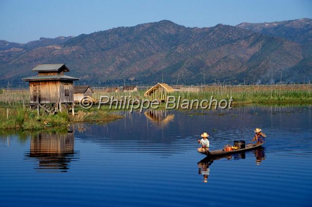
[[[69,72],[65,64],[37,65],[32,69],[38,75],[23,78],[29,82],[30,103],[36,104],[47,112],[62,110],[62,104],[71,104],[74,114],[74,81],[76,77],[64,75]],[[43,104],[43,105],[42,105]],[[52,104],[53,108],[48,110],[45,104]]]

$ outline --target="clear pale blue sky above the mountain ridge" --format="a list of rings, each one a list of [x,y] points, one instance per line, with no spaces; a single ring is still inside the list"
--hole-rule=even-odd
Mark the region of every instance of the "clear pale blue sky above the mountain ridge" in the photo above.
[[[311,0],[0,0],[0,39],[26,43],[168,19],[189,27],[312,18]]]

